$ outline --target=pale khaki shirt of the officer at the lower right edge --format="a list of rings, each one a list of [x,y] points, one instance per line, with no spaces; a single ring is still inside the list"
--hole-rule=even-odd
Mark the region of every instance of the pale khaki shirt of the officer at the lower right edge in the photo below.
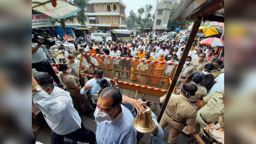
[[[224,114],[223,95],[217,91],[204,97],[203,100],[207,104],[200,108],[198,112],[208,124],[216,122],[218,117]]]

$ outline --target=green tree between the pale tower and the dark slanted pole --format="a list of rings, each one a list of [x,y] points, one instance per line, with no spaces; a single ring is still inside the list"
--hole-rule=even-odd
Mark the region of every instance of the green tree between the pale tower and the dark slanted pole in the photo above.
[[[168,28],[169,31],[175,31],[176,27],[180,27],[180,29],[182,29],[183,27],[188,26],[188,25],[191,24],[191,21],[188,21],[188,20],[185,20],[185,19],[180,21],[180,20],[174,20],[172,18],[176,9],[179,6],[179,3],[180,3],[179,0],[176,0],[176,1],[173,2],[173,6],[172,6],[172,9],[171,9],[171,13],[170,13],[170,17],[169,17],[169,21],[168,21],[168,25],[167,25],[167,28]]]

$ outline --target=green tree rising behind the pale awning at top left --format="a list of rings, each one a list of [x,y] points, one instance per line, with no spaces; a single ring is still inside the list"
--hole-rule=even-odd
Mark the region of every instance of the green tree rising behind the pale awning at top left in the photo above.
[[[65,22],[68,21],[68,20],[73,23],[74,18],[76,18],[79,24],[85,25],[85,22],[87,20],[86,16],[85,16],[85,7],[88,4],[88,0],[66,0],[66,1],[79,6],[82,10],[77,12],[76,15],[73,15],[73,16],[68,17],[68,18],[55,19],[55,18],[50,17],[50,22],[52,24],[55,24],[56,22],[60,23],[64,34],[66,34],[66,24],[65,24]]]

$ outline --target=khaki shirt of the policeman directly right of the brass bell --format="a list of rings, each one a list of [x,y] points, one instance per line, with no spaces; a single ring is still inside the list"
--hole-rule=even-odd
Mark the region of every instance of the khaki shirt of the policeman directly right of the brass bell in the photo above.
[[[172,94],[165,111],[174,120],[184,122],[187,125],[194,125],[196,121],[197,109],[182,94]]]

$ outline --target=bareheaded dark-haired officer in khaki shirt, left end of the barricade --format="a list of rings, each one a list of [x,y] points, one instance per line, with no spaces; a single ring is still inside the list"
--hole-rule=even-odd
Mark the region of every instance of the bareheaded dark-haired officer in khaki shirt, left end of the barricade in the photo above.
[[[68,64],[61,64],[59,71],[62,71],[60,73],[61,81],[66,85],[66,91],[68,91],[70,96],[75,99],[76,107],[81,109],[80,111],[82,113],[92,110],[93,108],[87,95],[80,94],[81,88],[79,87],[79,80],[76,78],[76,76],[70,73],[72,71],[70,66]]]

